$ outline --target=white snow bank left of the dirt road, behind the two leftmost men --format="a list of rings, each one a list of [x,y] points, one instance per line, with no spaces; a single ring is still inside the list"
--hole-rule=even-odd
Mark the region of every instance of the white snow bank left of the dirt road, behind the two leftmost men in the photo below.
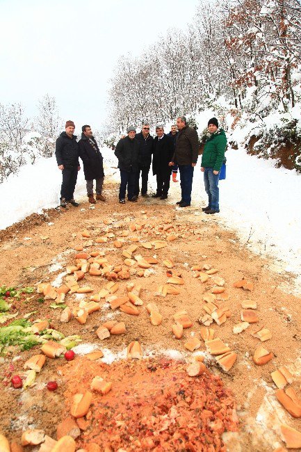
[[[113,151],[101,148],[104,156],[106,175],[113,175],[117,166],[117,159]],[[58,170],[55,157],[39,159],[34,165],[27,164],[17,175],[10,175],[0,184],[1,218],[0,229],[23,220],[31,213],[50,209],[60,204],[60,184],[62,173]],[[86,181],[83,169],[79,171],[74,197],[86,195]]]

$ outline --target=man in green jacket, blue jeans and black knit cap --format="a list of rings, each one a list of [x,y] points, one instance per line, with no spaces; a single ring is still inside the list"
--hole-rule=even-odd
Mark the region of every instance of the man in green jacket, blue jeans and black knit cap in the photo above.
[[[209,138],[207,138],[202,155],[201,171],[204,172],[205,191],[208,195],[208,206],[202,211],[213,214],[220,211],[218,181],[220,168],[225,159],[227,138],[225,131],[218,128],[218,120],[211,118],[208,121]]]

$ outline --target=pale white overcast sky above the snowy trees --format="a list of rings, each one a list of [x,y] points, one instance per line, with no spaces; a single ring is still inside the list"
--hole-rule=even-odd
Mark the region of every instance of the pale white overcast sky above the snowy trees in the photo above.
[[[84,123],[102,129],[119,56],[138,56],[170,27],[186,29],[197,3],[0,0],[0,102],[21,102],[33,117],[48,93],[77,134]]]

